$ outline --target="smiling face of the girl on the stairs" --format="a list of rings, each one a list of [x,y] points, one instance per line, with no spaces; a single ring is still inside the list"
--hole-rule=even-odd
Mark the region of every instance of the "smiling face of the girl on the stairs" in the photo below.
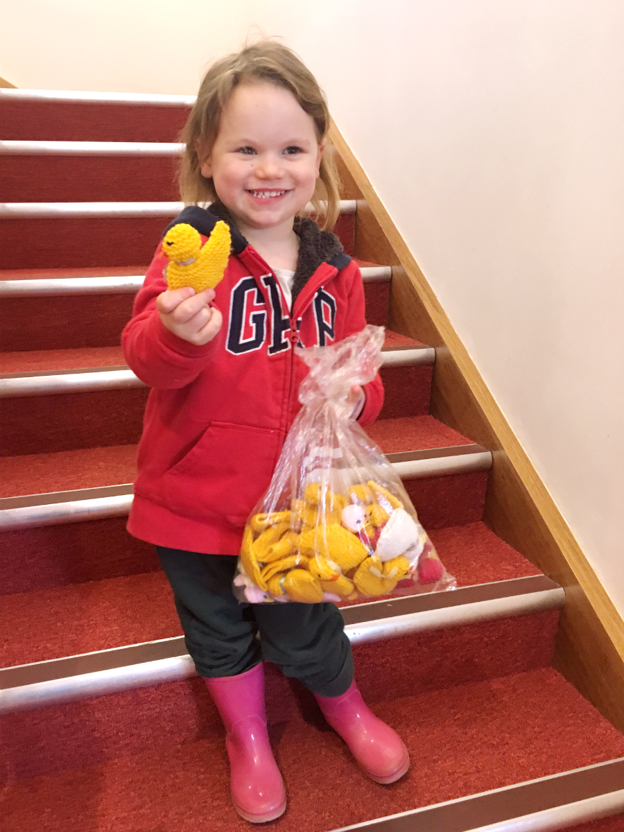
[[[235,88],[201,173],[245,233],[292,229],[319,176],[314,121],[291,92],[269,82]]]

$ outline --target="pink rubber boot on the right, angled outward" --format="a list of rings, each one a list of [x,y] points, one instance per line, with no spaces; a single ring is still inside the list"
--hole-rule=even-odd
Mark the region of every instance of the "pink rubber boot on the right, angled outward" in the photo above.
[[[325,719],[376,783],[394,783],[409,769],[403,740],[370,711],[355,682],[342,696],[316,696]]]

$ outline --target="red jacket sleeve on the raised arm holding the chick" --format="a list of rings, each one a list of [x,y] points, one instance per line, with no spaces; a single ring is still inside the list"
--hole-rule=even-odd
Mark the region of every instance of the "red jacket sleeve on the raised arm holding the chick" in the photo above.
[[[121,347],[132,372],[149,387],[162,390],[186,387],[194,381],[208,364],[216,340],[196,346],[162,324],[156,298],[167,288],[163,275],[167,263],[159,246],[136,295],[132,317],[121,333]]]

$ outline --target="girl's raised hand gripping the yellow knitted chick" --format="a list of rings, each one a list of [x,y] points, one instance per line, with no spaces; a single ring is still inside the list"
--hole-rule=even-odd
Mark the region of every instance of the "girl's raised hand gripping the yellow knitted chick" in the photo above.
[[[156,308],[166,329],[189,344],[201,347],[215,337],[223,324],[220,311],[209,306],[214,299],[214,289],[196,294],[190,286],[183,286],[158,295]]]

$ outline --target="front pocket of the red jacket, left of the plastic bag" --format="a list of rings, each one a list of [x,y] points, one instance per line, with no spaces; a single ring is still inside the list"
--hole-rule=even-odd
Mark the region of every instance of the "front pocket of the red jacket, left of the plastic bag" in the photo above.
[[[221,516],[243,527],[269,486],[280,447],[279,431],[210,423],[164,475],[167,507],[194,520]]]

